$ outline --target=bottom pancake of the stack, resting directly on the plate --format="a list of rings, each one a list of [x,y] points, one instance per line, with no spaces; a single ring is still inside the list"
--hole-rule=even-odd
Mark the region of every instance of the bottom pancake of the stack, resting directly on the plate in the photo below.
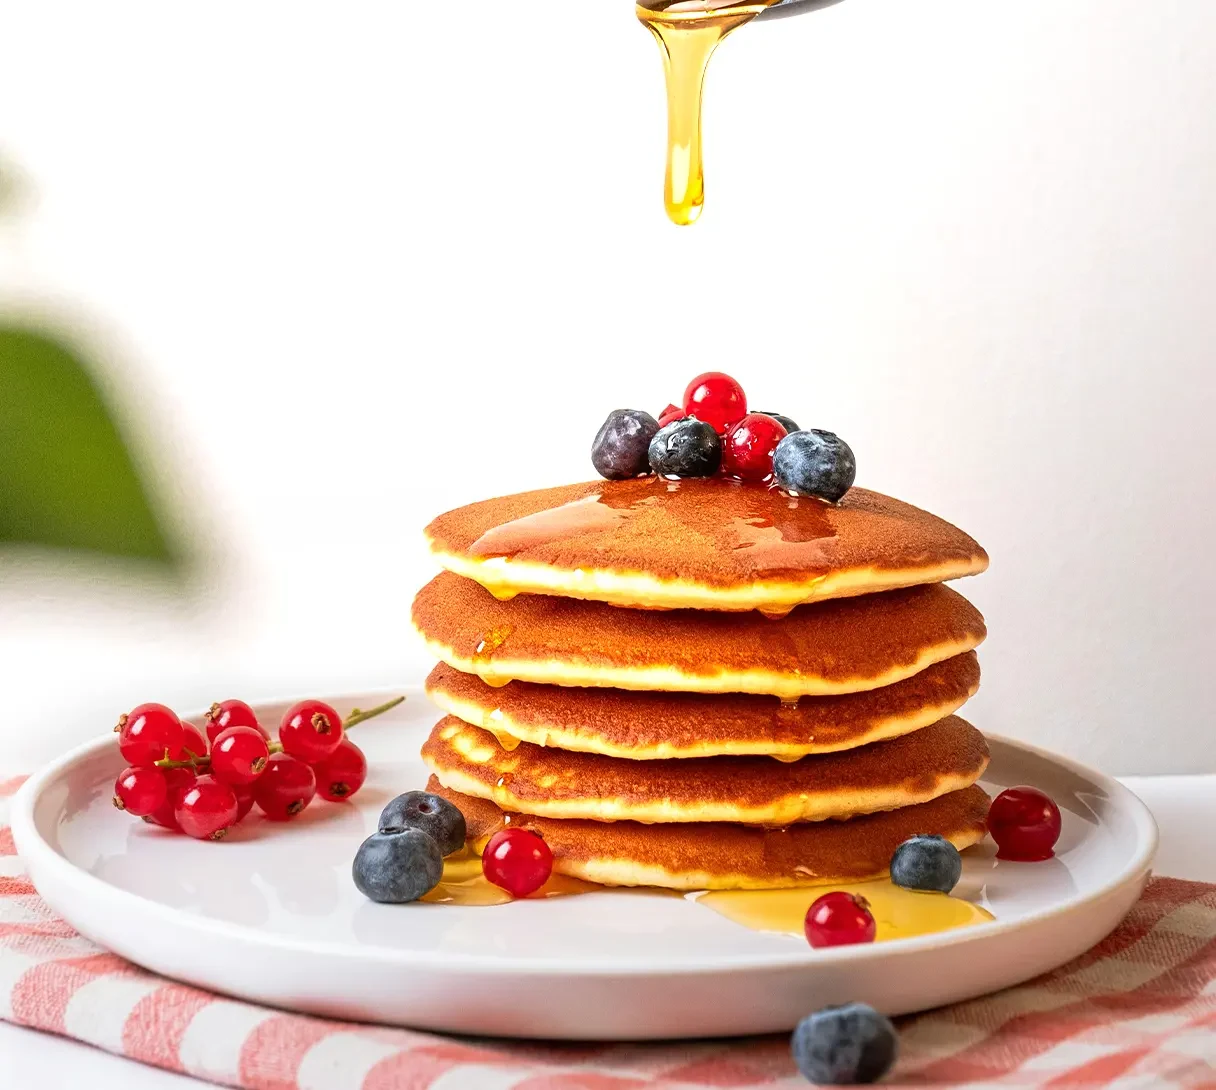
[[[432,776],[427,791],[455,803],[474,842],[505,824],[529,828],[553,852],[553,870],[603,886],[670,889],[771,889],[880,878],[908,837],[936,833],[956,848],[984,838],[989,797],[979,787],[851,821],[758,828],[710,821],[558,821],[505,814],[494,803],[450,791]]]

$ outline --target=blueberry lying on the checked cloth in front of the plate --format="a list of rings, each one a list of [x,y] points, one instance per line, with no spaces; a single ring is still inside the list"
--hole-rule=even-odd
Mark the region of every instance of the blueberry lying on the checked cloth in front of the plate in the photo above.
[[[863,1002],[807,1015],[789,1041],[799,1072],[826,1086],[877,1083],[891,1069],[899,1050],[891,1019]]]

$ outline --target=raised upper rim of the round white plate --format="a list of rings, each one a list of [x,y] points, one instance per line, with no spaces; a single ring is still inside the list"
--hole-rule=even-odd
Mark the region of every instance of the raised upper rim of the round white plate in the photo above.
[[[426,698],[422,685],[412,684],[394,689],[359,690],[354,692],[339,692],[327,695],[322,698],[328,703],[338,706],[361,706],[370,699],[405,693],[406,701],[411,697]],[[254,708],[263,708],[275,704],[289,704],[299,697],[271,697],[253,702]],[[204,710],[191,712],[182,719],[195,720],[204,715]],[[379,963],[393,962],[401,968],[424,967],[428,970],[443,970],[449,973],[477,973],[477,974],[503,974],[519,977],[602,977],[602,978],[641,978],[653,976],[659,972],[664,976],[698,977],[715,976],[722,972],[775,972],[788,971],[790,968],[814,968],[823,965],[849,963],[854,961],[866,961],[872,959],[893,959],[900,955],[913,955],[925,950],[942,948],[966,948],[974,943],[985,942],[1020,931],[1028,927],[1046,925],[1053,918],[1083,910],[1099,904],[1107,898],[1116,895],[1125,889],[1128,883],[1143,882],[1152,869],[1153,858],[1156,854],[1160,841],[1156,820],[1149,808],[1128,787],[1118,780],[1099,772],[1081,762],[1058,753],[1052,753],[1040,746],[1023,742],[1007,735],[984,732],[990,742],[1009,746],[1030,754],[1040,760],[1054,764],[1075,775],[1091,779],[1107,792],[1108,797],[1118,799],[1121,809],[1126,810],[1136,826],[1137,853],[1124,863],[1122,867],[1109,881],[1099,888],[1087,893],[1076,900],[1049,905],[1026,916],[1014,920],[993,920],[981,926],[956,931],[939,932],[934,934],[918,936],[913,938],[890,939],[884,943],[874,943],[855,946],[834,946],[820,950],[801,948],[790,944],[788,951],[773,951],[754,955],[730,955],[717,957],[708,962],[698,961],[671,961],[657,966],[653,959],[631,960],[619,959],[606,965],[602,961],[581,962],[570,957],[563,959],[537,959],[513,955],[489,955],[469,954],[450,950],[401,950],[392,946],[359,946],[340,942],[325,942],[319,939],[298,938],[274,932],[261,931],[246,925],[232,923],[190,912],[185,909],[165,905],[150,898],[141,897],[119,886],[106,882],[103,878],[92,875],[72,863],[64,854],[49,843],[39,832],[34,810],[41,794],[58,779],[71,772],[71,770],[84,762],[100,757],[102,752],[113,746],[113,735],[106,734],[92,738],[61,754],[55,760],[39,769],[29,776],[21,786],[10,803],[10,826],[17,854],[29,871],[30,881],[38,889],[35,869],[44,873],[49,872],[55,884],[75,890],[81,898],[96,901],[98,898],[107,899],[114,911],[122,912],[124,909],[135,908],[137,911],[150,914],[152,917],[170,927],[186,927],[198,933],[221,942],[242,942],[254,945],[269,945],[281,953],[306,954],[311,957],[338,957],[345,960],[372,960]],[[39,895],[41,890],[39,890]],[[55,906],[51,905],[54,909]],[[57,911],[57,910],[56,910]]]

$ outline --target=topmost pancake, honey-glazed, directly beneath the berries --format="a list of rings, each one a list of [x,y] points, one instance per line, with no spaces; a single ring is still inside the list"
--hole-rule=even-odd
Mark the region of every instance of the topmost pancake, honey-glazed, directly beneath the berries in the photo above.
[[[962,530],[890,496],[854,488],[833,505],[722,478],[500,496],[440,515],[426,534],[445,568],[500,596],[635,608],[781,614],[987,567]]]

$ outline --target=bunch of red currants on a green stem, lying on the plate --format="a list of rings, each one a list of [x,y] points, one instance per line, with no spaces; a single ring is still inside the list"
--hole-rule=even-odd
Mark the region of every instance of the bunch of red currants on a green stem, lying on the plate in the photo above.
[[[140,704],[114,727],[128,763],[114,781],[114,805],[218,841],[254,805],[271,821],[287,821],[317,794],[340,802],[367,779],[367,759],[345,731],[402,699],[356,709],[345,724],[323,701],[300,701],[285,713],[277,742],[244,701],[212,704],[206,737],[164,704]]]

